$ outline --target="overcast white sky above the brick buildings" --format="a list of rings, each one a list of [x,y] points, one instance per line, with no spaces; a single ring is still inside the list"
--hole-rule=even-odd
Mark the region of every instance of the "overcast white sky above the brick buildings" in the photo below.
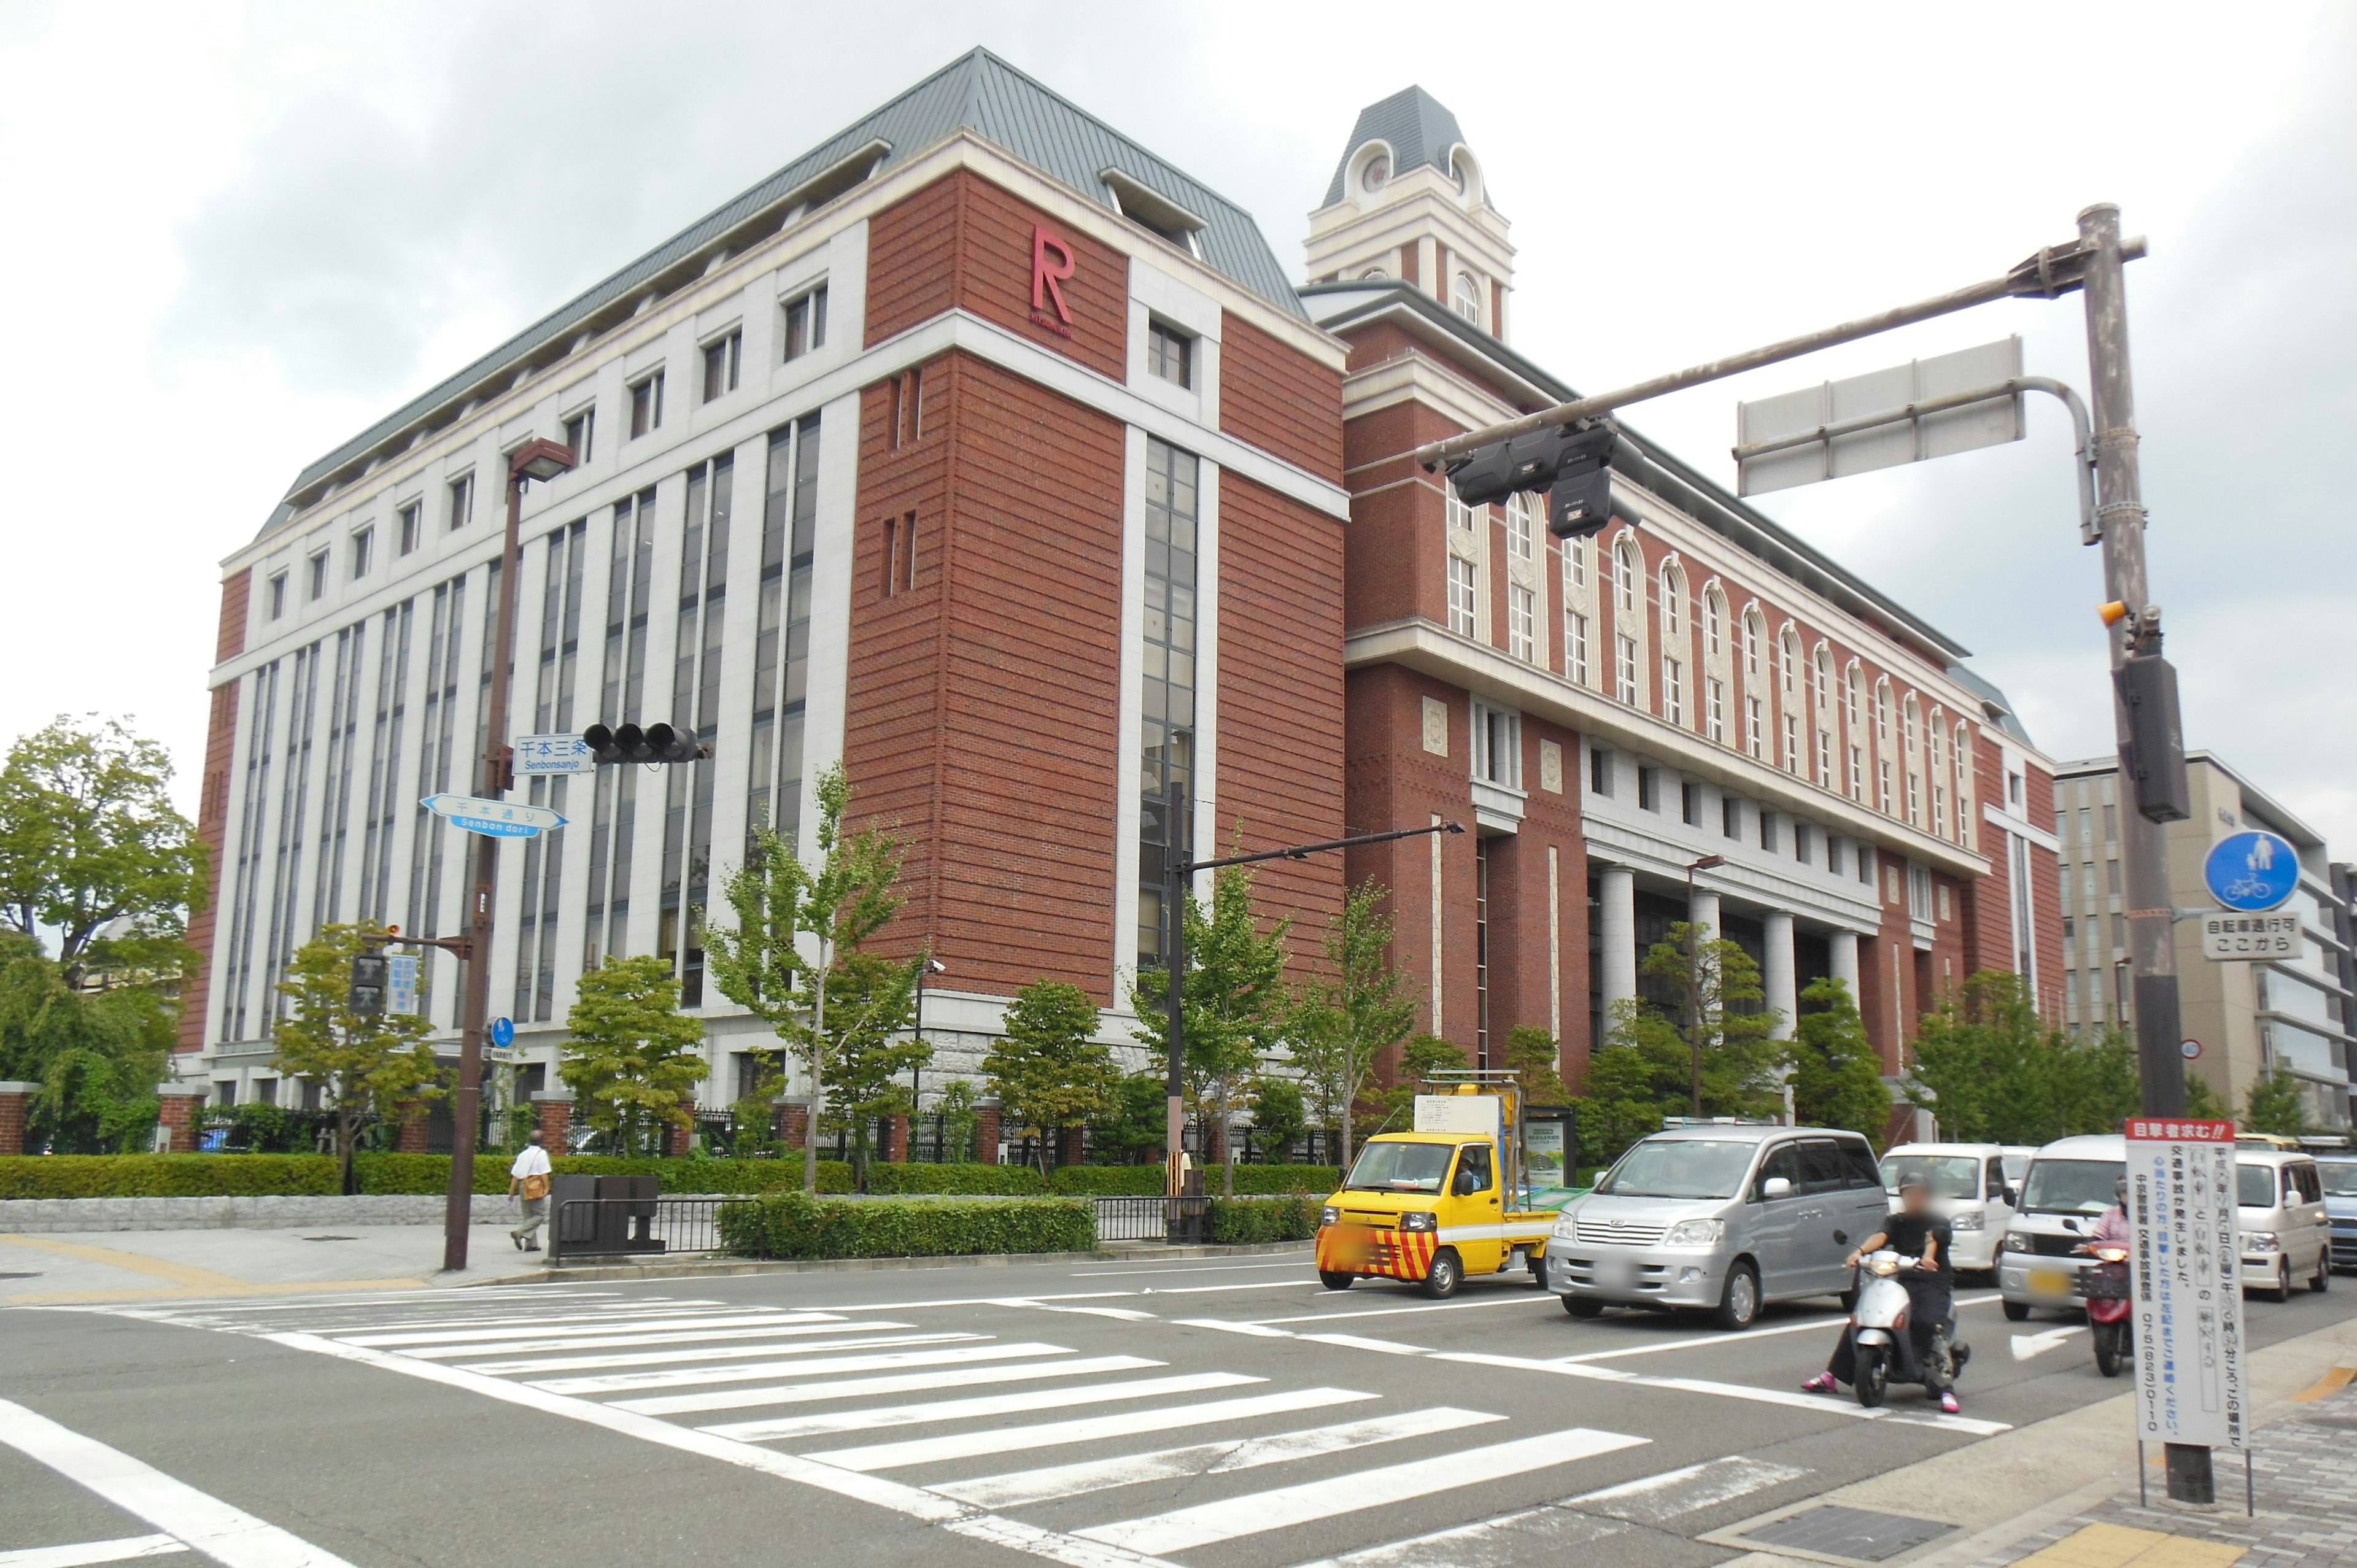
[[[1994,276],[2117,200],[2152,238],[2131,330],[2187,740],[2357,856],[2352,17],[0,0],[0,738],[130,714],[193,811],[217,564],[306,460],[983,42],[1259,215],[1296,274],[1353,116],[1421,83],[1513,219],[1516,347],[1582,389]],[[2084,387],[2072,297],[1629,420],[1732,481],[1737,398],[2008,332]],[[2100,571],[2065,415],[2029,422],[1763,505],[2072,759],[2112,745]]]

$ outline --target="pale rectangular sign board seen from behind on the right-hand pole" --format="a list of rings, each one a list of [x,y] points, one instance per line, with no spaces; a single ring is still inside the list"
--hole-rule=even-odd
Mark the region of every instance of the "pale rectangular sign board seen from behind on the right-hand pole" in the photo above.
[[[2001,391],[1959,408],[1914,413],[1916,403],[1980,387],[1999,387],[2022,373],[2022,340],[2006,337],[1978,349],[1914,358],[1888,370],[1820,382],[1735,408],[1735,448],[1784,443],[1834,424],[1871,420],[1867,429],[1777,446],[1772,453],[1739,455],[1737,493],[1763,495],[1820,479],[1843,479],[1900,462],[1949,457],[1975,446],[2022,439],[2022,394]]]

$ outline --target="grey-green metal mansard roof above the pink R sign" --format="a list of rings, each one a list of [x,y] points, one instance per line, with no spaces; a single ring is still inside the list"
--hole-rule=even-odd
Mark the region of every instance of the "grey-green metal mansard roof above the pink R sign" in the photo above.
[[[1454,125],[1454,120],[1450,120],[1450,125]],[[504,377],[514,368],[542,368],[554,363],[563,356],[561,347],[570,342],[575,332],[582,328],[603,330],[625,318],[629,314],[629,302],[646,288],[684,285],[695,274],[681,274],[681,266],[691,264],[698,255],[712,250],[738,229],[766,222],[766,231],[775,231],[778,215],[773,215],[771,207],[778,207],[783,198],[794,196],[801,186],[808,186],[820,174],[827,174],[837,165],[851,160],[860,153],[860,149],[877,141],[886,144],[886,151],[870,170],[882,172],[924,153],[959,130],[976,132],[985,141],[1004,149],[1023,163],[1030,163],[1032,167],[1044,170],[1075,191],[1094,196],[1108,207],[1115,207],[1115,198],[1105,186],[1105,170],[1127,174],[1171,205],[1202,219],[1197,243],[1202,245],[1202,259],[1207,266],[1223,274],[1240,288],[1261,295],[1280,311],[1303,316],[1292,278],[1285,276],[1285,266],[1277,264],[1275,252],[1268,248],[1268,241],[1261,236],[1261,226],[1249,212],[1193,177],[1174,170],[1169,163],[1120,134],[1096,116],[1023,75],[997,54],[973,50],[971,54],[964,54],[924,78],[874,113],[827,137],[742,196],[681,229],[629,266],[582,290],[457,375],[438,382],[422,396],[377,420],[325,457],[311,462],[295,476],[295,483],[288,486],[285,500],[280,500],[280,505],[271,512],[262,533],[266,535],[278,528],[297,512],[297,507],[311,505],[311,500],[316,500],[311,493],[321,486],[321,481],[351,467],[354,462],[365,460],[375,448],[417,424],[427,415],[469,394],[493,391],[493,377]],[[832,193],[834,191],[825,191],[823,196]],[[764,231],[754,231],[745,236],[745,243],[761,236]]]

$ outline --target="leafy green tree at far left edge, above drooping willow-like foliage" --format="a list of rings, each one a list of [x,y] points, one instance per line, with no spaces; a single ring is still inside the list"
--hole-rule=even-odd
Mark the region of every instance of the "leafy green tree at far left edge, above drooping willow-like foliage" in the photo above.
[[[205,844],[170,788],[170,752],[113,719],[59,714],[0,764],[0,922],[52,931],[68,986],[85,969],[181,971]]]

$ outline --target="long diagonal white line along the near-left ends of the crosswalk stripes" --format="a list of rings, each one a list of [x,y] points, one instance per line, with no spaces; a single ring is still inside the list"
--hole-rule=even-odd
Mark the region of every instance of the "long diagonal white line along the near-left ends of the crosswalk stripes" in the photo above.
[[[453,1389],[471,1389],[486,1398],[495,1398],[509,1405],[523,1405],[526,1410],[561,1415],[566,1419],[585,1422],[589,1427],[603,1427],[606,1431],[658,1443],[662,1448],[674,1448],[679,1452],[702,1455],[707,1460],[719,1460],[724,1464],[735,1464],[740,1469],[761,1471],[768,1476],[778,1476],[783,1481],[801,1481],[804,1485],[818,1488],[823,1493],[834,1493],[837,1497],[872,1502],[882,1509],[891,1509],[910,1518],[938,1523],[940,1528],[952,1530],[957,1535],[995,1542],[1014,1551],[1028,1551],[1030,1556],[1042,1556],[1051,1563],[1065,1563],[1068,1568],[1176,1568],[1174,1563],[1164,1563],[1160,1559],[1150,1559],[1136,1551],[1122,1551],[1117,1547],[1103,1547],[1098,1542],[1075,1540],[1070,1535],[1058,1535],[1056,1530],[1025,1526],[1014,1518],[1004,1518],[999,1514],[973,1514],[966,1504],[955,1502],[950,1497],[936,1497],[933,1493],[926,1493],[924,1488],[917,1485],[903,1485],[900,1481],[886,1481],[884,1476],[860,1476],[858,1471],[834,1469],[832,1464],[811,1464],[808,1460],[797,1460],[794,1455],[785,1455],[773,1448],[759,1448],[757,1443],[733,1443],[709,1431],[695,1431],[693,1427],[674,1427],[672,1422],[658,1422],[643,1415],[634,1415],[618,1405],[596,1405],[580,1398],[563,1398],[561,1394],[542,1394],[530,1384],[511,1384],[497,1377],[478,1377],[474,1372],[462,1372],[457,1368],[434,1365],[431,1361],[410,1361],[405,1356],[389,1356],[384,1351],[370,1351],[354,1344],[337,1344],[335,1339],[321,1339],[316,1335],[264,1335],[264,1337],[288,1349],[318,1351],[321,1356],[339,1356],[344,1361],[358,1361],[365,1365],[384,1368],[389,1372],[420,1377],[424,1382],[448,1384]]]

